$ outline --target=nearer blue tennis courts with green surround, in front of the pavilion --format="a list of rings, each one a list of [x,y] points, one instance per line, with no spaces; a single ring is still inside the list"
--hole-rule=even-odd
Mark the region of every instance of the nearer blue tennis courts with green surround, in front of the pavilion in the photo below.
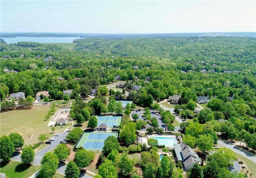
[[[75,148],[83,147],[89,151],[102,151],[104,141],[109,136],[118,137],[118,133],[114,132],[86,132],[82,135]]]

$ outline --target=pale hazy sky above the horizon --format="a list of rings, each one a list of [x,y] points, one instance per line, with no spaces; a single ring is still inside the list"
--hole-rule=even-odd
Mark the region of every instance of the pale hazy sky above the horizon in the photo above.
[[[2,32],[255,32],[255,0],[1,0]]]

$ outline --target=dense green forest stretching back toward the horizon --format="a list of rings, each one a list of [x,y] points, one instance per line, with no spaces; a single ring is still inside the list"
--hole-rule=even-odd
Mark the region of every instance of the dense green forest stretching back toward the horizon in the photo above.
[[[123,80],[126,89],[134,84],[142,86],[138,91],[129,90],[127,97],[140,106],[150,106],[150,97],[159,102],[181,95],[176,112],[194,119],[181,125],[188,143],[216,131],[226,139],[248,138],[248,146],[256,149],[255,38],[147,37],[74,42],[74,50],[69,51],[57,45],[9,45],[1,40],[1,100],[15,92],[35,97],[44,90],[60,100],[62,91],[68,89],[74,89],[71,97],[75,98],[78,93],[86,96],[93,88],[100,90],[101,85]],[[96,95],[101,94],[106,93]],[[191,101],[197,102],[197,96],[210,99],[198,115],[189,107]],[[124,96],[115,97],[120,100]],[[227,121],[218,123],[218,119]],[[216,133],[212,136],[215,142]]]

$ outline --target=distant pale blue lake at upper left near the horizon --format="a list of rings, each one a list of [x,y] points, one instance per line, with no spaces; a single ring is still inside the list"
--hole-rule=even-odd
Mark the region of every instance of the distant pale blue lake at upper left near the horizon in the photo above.
[[[16,37],[2,38],[8,44],[17,43],[20,41],[37,42],[37,43],[72,43],[74,39],[79,37]]]

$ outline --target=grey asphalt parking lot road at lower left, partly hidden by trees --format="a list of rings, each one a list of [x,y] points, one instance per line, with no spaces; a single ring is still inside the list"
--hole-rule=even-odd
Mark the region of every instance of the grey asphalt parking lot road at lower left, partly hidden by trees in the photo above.
[[[62,132],[59,133],[60,136],[54,136],[52,138],[54,138],[54,141],[51,141],[52,143],[50,145],[48,145],[48,147],[42,149],[41,151],[39,151],[38,153],[35,154],[35,159],[33,164],[37,164],[37,165],[41,165],[40,162],[42,160],[42,157],[49,152],[51,149],[54,149],[57,147],[58,144],[60,144],[60,141],[63,141],[64,138],[68,135],[69,132]],[[45,143],[44,143],[45,144]],[[12,157],[11,160],[15,160],[15,161],[20,161],[21,162],[21,158],[20,158],[20,154],[16,154]],[[65,170],[66,170],[66,165],[61,165],[59,164],[57,172],[59,172],[60,174],[65,174]],[[80,178],[92,178],[91,176],[88,176],[87,174],[83,174],[80,176]]]

